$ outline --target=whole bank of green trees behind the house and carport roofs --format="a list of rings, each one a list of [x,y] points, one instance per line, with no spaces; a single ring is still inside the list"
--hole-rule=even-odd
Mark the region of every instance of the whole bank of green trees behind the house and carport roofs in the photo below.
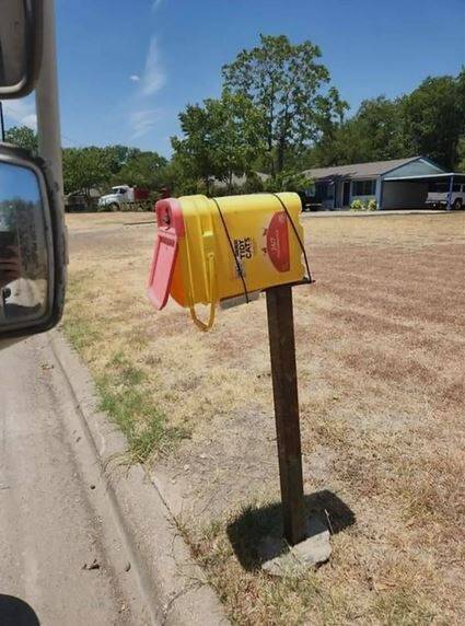
[[[429,78],[408,95],[362,102],[353,117],[334,125],[300,153],[303,169],[423,154],[460,169],[465,137],[465,70],[456,78]]]

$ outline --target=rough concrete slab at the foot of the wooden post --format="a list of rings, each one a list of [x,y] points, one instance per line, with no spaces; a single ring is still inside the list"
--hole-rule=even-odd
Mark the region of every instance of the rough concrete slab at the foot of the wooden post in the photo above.
[[[307,538],[290,546],[283,537],[267,536],[259,546],[261,569],[277,577],[298,578],[311,567],[326,563],[332,554],[330,535],[316,514],[309,520]]]

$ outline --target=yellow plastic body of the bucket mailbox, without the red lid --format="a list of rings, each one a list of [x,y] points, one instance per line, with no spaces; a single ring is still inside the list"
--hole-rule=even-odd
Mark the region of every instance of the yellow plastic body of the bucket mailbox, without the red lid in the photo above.
[[[301,200],[298,194],[278,194],[295,225],[301,242],[303,229],[299,222]],[[279,200],[271,194],[253,194],[217,198],[236,253],[248,292],[301,280],[304,276],[302,250]],[[178,256],[171,285],[172,297],[183,306],[211,304],[244,294],[231,244],[213,200],[206,196],[184,196],[178,199],[183,210],[185,236],[179,237]],[[275,213],[286,216],[289,244],[289,268],[278,270],[269,254],[268,230]],[[275,222],[276,223],[275,218]],[[286,227],[282,227],[286,228]],[[282,231],[281,231],[282,232]],[[274,241],[271,241],[274,245]],[[200,326],[211,326],[210,324]],[[196,321],[196,320],[195,320]],[[197,323],[197,321],[196,321]],[[207,329],[207,328],[204,328]]]

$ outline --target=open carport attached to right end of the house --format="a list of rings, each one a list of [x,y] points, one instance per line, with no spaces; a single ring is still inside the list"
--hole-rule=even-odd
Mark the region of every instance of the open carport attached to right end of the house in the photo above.
[[[450,210],[452,194],[457,185],[465,185],[465,174],[444,172],[414,176],[385,176],[381,183],[380,207],[383,209],[427,209],[428,194],[433,189],[434,184],[441,184],[443,193],[447,194],[446,209]]]

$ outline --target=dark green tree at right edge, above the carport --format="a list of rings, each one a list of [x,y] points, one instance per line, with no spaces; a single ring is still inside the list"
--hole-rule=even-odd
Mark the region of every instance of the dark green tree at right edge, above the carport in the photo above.
[[[427,78],[404,98],[403,116],[411,153],[453,170],[465,134],[465,69],[457,77]]]

